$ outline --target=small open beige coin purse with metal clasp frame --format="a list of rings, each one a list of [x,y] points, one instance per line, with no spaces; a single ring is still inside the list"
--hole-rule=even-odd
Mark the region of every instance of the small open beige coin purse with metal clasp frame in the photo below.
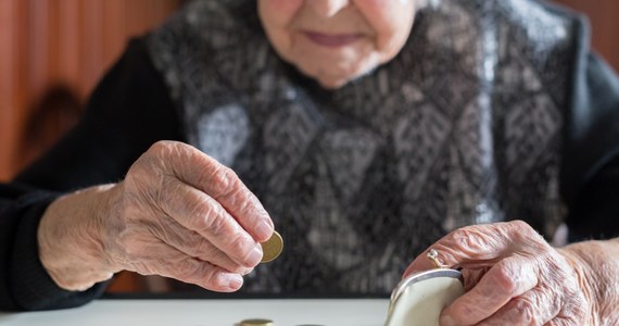
[[[456,269],[413,274],[391,293],[384,326],[438,326],[441,311],[464,292],[464,279]]]

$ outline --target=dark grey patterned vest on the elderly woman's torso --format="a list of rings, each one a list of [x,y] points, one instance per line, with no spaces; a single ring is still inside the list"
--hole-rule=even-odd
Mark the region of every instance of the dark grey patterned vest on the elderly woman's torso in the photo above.
[[[577,23],[536,1],[430,1],[395,59],[332,91],[277,57],[248,1],[192,2],[148,47],[190,143],[285,238],[244,290],[387,293],[457,227],[563,221]]]

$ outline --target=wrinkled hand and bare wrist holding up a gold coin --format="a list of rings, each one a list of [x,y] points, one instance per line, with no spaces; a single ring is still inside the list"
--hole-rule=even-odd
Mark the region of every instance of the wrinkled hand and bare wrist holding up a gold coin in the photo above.
[[[61,197],[41,220],[40,258],[54,281],[84,290],[127,269],[235,291],[273,234],[257,198],[195,148],[153,145],[125,179]]]

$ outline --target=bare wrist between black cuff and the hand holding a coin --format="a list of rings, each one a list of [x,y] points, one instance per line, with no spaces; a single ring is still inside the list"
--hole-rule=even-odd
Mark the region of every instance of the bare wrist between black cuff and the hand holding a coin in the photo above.
[[[37,239],[43,267],[59,287],[86,290],[115,272],[101,242],[101,221],[113,185],[97,186],[55,200],[43,214]]]

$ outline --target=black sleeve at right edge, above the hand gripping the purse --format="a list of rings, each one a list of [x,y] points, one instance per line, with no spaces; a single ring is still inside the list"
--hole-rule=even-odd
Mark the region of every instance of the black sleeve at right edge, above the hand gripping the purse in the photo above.
[[[619,236],[619,78],[603,60],[583,55],[568,121],[564,180],[570,241]]]

